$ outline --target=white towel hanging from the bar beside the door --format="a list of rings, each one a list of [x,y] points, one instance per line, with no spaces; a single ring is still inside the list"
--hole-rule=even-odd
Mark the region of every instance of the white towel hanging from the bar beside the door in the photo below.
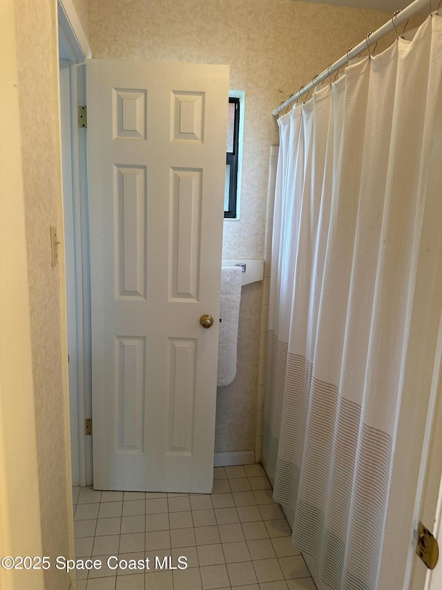
[[[236,348],[240,317],[242,268],[223,266],[221,270],[220,348],[218,387],[229,385],[236,376]]]

